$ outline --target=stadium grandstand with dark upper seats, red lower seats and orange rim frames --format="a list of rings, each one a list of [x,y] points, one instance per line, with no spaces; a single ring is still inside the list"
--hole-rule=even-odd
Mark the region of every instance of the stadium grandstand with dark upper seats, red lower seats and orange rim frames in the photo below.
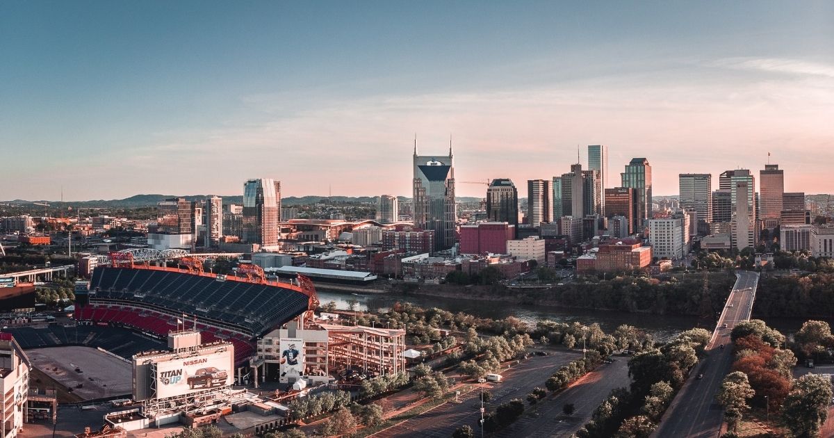
[[[131,254],[110,258],[110,266],[94,269],[88,295],[77,295],[79,323],[131,328],[162,340],[188,326],[204,341],[232,343],[239,370],[254,355],[259,336],[319,304],[309,279],[268,281],[252,264],[227,276],[203,272],[199,259],[185,258],[180,263],[187,269],[179,269],[134,264]]]

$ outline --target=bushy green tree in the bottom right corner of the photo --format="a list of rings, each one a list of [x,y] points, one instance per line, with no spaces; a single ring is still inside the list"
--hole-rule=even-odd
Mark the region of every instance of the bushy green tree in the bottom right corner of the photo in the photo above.
[[[793,389],[785,398],[782,416],[794,436],[810,438],[819,435],[830,403],[831,380],[803,375],[794,382]]]

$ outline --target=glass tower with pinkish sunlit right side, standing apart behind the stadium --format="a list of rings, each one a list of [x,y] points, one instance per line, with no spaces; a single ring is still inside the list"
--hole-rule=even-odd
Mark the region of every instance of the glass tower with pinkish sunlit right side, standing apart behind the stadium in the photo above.
[[[280,238],[281,182],[249,179],[244,184],[244,241],[274,246]]]

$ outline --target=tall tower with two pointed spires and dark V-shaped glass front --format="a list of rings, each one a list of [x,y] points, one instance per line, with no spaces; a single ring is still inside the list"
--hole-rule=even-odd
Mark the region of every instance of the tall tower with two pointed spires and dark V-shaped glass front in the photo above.
[[[455,159],[449,155],[418,155],[414,140],[414,226],[435,231],[435,250],[455,244]]]

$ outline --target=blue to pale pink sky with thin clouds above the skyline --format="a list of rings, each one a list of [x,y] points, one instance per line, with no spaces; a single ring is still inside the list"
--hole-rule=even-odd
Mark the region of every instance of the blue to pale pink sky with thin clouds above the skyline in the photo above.
[[[0,2],[0,199],[411,195],[450,138],[460,196],[609,148],[677,175],[834,192],[834,3]]]

